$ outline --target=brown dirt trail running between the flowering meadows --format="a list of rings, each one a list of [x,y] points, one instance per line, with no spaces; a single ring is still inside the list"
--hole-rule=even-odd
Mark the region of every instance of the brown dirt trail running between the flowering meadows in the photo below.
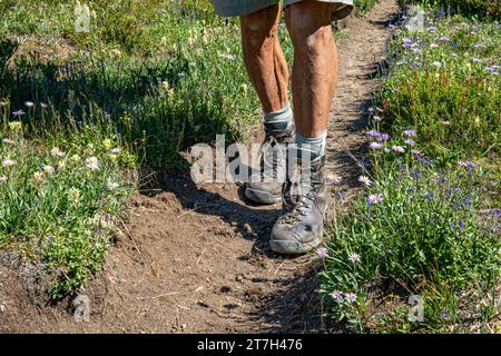
[[[396,10],[383,0],[366,19],[346,21],[328,134],[344,196],[356,190],[358,170],[346,151],[356,156],[364,142],[363,112]],[[284,258],[267,246],[279,206],[249,206],[235,185],[195,186],[187,176],[160,177],[158,187],[134,196],[130,222],[87,290],[90,322],[76,323],[70,306],[38,305],[21,277],[0,266],[0,332],[323,330],[314,257]]]

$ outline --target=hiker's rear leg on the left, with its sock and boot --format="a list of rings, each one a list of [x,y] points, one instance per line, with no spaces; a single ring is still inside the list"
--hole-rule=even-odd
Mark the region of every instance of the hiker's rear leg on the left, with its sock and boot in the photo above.
[[[278,165],[285,165],[285,159],[282,161],[278,158],[277,161],[276,152],[266,155],[266,148],[294,141],[293,113],[288,103],[287,62],[278,41],[279,17],[279,4],[240,17],[244,60],[263,107],[266,134],[262,171],[252,177],[245,195],[261,204],[282,200],[282,182],[277,179],[276,170],[279,169]],[[268,168],[265,168],[266,165]],[[264,177],[266,169],[273,171],[273,177],[266,177],[267,180]]]

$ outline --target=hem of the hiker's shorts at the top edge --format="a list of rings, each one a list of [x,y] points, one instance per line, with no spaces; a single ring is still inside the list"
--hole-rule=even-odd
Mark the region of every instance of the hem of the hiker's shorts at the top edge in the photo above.
[[[277,4],[281,0],[213,0],[214,11],[223,17],[244,16]],[[302,0],[283,0],[284,7]],[[353,10],[353,0],[317,0],[332,2],[333,21],[347,17]]]

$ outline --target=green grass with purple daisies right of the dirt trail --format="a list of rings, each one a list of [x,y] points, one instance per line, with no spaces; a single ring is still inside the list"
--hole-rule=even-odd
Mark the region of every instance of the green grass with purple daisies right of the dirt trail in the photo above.
[[[429,27],[399,30],[389,48],[370,187],[337,211],[323,258],[327,314],[352,332],[497,332],[500,28],[461,17]],[[409,318],[412,295],[422,322]]]

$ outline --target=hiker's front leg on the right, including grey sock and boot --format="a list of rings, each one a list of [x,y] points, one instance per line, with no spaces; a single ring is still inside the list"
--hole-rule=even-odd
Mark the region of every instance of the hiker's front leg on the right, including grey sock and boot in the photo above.
[[[337,52],[331,3],[293,3],[285,8],[285,20],[294,44],[292,91],[301,181],[294,187],[288,180],[284,188],[284,209],[272,230],[271,247],[281,254],[302,254],[322,243],[324,230],[325,140]]]

